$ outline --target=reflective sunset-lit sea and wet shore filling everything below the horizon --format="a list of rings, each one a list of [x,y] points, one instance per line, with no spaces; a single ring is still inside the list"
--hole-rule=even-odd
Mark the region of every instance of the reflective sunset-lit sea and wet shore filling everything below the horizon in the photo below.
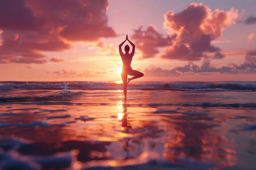
[[[0,82],[1,170],[255,170],[256,82]]]

